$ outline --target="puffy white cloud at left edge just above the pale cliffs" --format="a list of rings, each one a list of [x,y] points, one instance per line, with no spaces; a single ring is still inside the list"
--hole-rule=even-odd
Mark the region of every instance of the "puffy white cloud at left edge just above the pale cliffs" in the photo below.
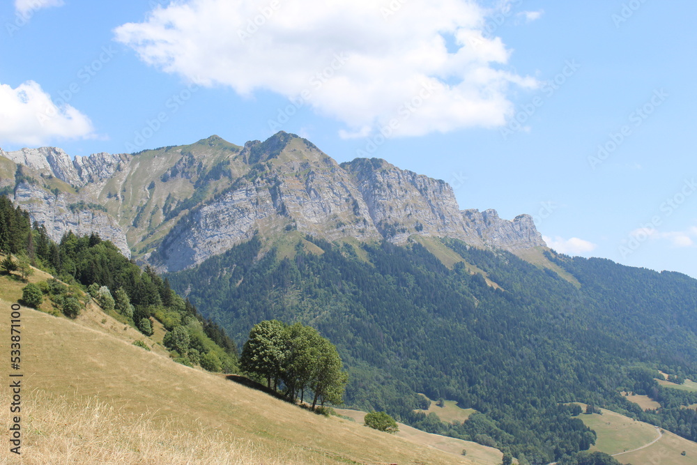
[[[55,138],[94,137],[87,116],[70,105],[57,107],[33,81],[13,89],[0,84],[0,142],[39,146]]]

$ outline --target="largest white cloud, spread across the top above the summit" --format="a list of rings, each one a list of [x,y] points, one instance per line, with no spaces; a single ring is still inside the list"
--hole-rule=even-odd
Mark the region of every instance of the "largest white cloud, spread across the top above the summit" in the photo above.
[[[500,38],[473,0],[187,0],[155,8],[116,40],[198,84],[264,89],[346,123],[343,137],[492,128],[514,110]],[[273,116],[272,116],[273,117]]]

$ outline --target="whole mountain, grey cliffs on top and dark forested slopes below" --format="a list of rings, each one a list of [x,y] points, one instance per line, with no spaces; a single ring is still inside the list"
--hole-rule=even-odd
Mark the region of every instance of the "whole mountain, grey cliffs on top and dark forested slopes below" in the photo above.
[[[265,319],[317,328],[348,369],[349,406],[521,464],[595,442],[571,402],[697,440],[684,408],[697,393],[656,381],[697,379],[690,277],[556,254],[528,215],[461,211],[443,181],[385,160],[339,165],[284,132],[72,162],[0,155],[0,192],[51,234],[93,227],[238,344]],[[473,413],[443,422],[424,395]]]

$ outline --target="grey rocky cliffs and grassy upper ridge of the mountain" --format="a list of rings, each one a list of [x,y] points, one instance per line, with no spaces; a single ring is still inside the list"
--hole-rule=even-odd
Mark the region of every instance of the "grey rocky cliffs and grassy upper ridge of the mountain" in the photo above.
[[[329,241],[404,244],[416,234],[506,250],[545,245],[529,215],[507,221],[493,210],[461,211],[444,181],[375,158],[339,165],[286,132],[243,147],[213,136],[135,155],[70,160],[59,148],[38,148],[0,156],[79,188],[58,195],[26,181],[15,188],[15,200],[52,237],[97,231],[160,270],[194,266],[254,234],[296,229]]]

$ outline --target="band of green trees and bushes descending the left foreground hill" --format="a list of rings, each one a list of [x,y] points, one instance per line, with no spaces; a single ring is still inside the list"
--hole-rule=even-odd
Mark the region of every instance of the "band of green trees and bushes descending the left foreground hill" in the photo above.
[[[31,227],[29,215],[0,196],[0,251],[20,257],[20,264],[11,257],[2,261],[7,273],[22,269],[22,263],[31,263],[63,282],[82,287],[107,314],[138,328],[144,335],[153,334],[153,319],[168,331],[185,333],[187,344],[168,346],[176,361],[213,372],[236,371],[236,344],[220,326],[201,317],[189,300],[171,289],[167,279],[163,280],[151,268],[142,271],[96,234],[78,237],[68,232],[56,244],[48,238],[43,225]],[[22,278],[26,278],[24,274]],[[68,317],[77,317],[86,304],[84,293],[56,280],[27,284],[22,300],[38,308],[44,295]]]

